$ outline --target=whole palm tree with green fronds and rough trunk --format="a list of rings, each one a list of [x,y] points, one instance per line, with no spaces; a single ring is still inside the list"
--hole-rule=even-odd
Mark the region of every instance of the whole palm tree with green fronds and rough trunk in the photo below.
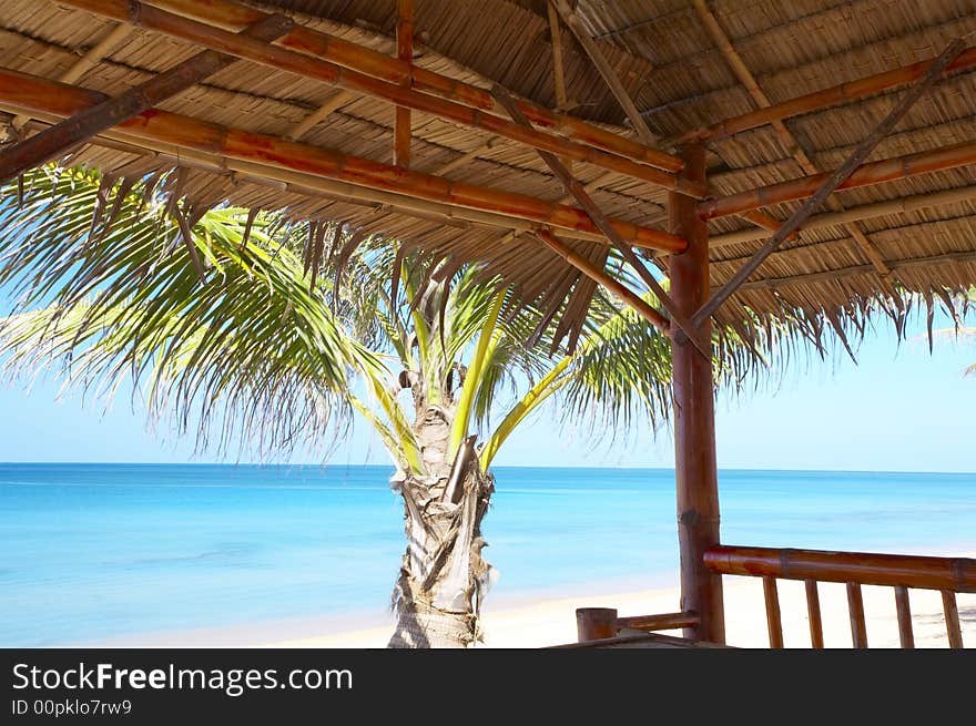
[[[579,345],[552,358],[551,316],[477,267],[334,223],[194,209],[179,186],[48,167],[6,190],[0,287],[19,297],[0,326],[7,371],[60,365],[67,386],[105,399],[131,379],[152,419],[223,452],[327,447],[358,413],[405,508],[390,646],[474,642],[495,456],[555,396],[597,434],[657,426],[669,345],[598,294]],[[756,350],[729,331],[716,340],[731,361],[720,377],[738,385]]]

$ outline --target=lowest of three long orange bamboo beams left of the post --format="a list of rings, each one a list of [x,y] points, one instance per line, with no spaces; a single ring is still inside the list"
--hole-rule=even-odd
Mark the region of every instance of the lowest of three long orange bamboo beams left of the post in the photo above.
[[[70,116],[105,98],[98,91],[0,69],[0,102],[6,102],[19,112]],[[576,207],[514,192],[453,182],[322,146],[251,133],[181,114],[153,110],[119,124],[116,130],[131,139],[172,144],[179,149],[217,154],[267,168],[305,172],[451,207],[467,207],[577,232],[600,232],[586,212]],[[680,252],[685,246],[680,237],[660,229],[640,227],[620,219],[610,222],[624,239],[636,246],[668,253]]]

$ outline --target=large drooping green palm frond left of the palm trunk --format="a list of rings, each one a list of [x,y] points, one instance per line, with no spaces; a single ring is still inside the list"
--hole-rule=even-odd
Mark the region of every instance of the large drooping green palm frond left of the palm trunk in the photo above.
[[[17,296],[0,327],[7,371],[61,364],[70,385],[109,398],[129,377],[151,416],[195,425],[201,446],[216,433],[225,448],[235,426],[267,451],[322,443],[347,423],[349,367],[372,355],[309,292],[270,218],[243,245],[246,211],[197,215],[201,284],[174,218],[189,211],[154,188],[47,167],[22,204],[3,190],[0,286]]]

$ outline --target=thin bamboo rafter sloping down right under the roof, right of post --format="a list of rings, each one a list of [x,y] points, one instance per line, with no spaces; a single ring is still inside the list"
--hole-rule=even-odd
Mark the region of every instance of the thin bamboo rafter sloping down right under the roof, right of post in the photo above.
[[[722,55],[725,58],[725,62],[732,69],[732,72],[739,79],[739,81],[745,86],[746,91],[749,91],[749,95],[755,102],[755,104],[760,109],[767,109],[772,105],[769,96],[762,90],[756,81],[755,76],[752,74],[752,71],[749,70],[749,67],[745,64],[745,61],[742,60],[742,57],[739,54],[739,51],[735,50],[735,47],[732,44],[729,35],[722,29],[722,25],[719,23],[718,18],[709,10],[709,6],[705,0],[694,0],[694,9],[698,12],[699,19],[704,24],[705,30],[712,37],[714,43],[722,51]],[[783,144],[783,149],[796,160],[796,163],[800,164],[800,168],[803,170],[804,174],[819,174],[821,170],[816,167],[813,163],[813,160],[810,159],[806,151],[803,149],[803,144],[800,143],[800,140],[786,127],[780,120],[775,120],[772,122],[773,130],[776,132],[776,135],[780,137],[780,142]],[[834,211],[843,211],[843,205],[838,200],[831,196],[827,197],[827,205]],[[755,211],[750,212],[745,215],[742,215],[746,219],[751,218],[748,215],[754,215]],[[772,221],[773,226],[767,226],[763,224],[763,221],[756,221],[754,217],[752,221],[761,227],[766,229],[772,229],[775,232],[780,223],[772,217],[769,217]],[[847,223],[844,225],[847,234],[851,235],[851,238],[854,241],[856,246],[863,252],[864,256],[867,257],[868,262],[871,262],[875,268],[877,268],[878,274],[882,277],[887,277],[891,275],[892,270],[885,264],[884,258],[877,248],[871,243],[871,241],[865,236],[862,229],[855,223]],[[799,234],[794,233],[793,236]]]

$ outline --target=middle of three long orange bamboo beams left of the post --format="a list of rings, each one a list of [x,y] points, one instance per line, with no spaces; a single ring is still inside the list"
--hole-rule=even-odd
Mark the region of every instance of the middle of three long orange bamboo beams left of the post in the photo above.
[[[247,38],[242,38],[215,25],[189,20],[156,7],[140,3],[136,0],[64,0],[64,2],[109,18],[128,20],[141,28],[159,31],[212,50],[231,53],[275,70],[297,73],[339,89],[378,98],[396,105],[505,136],[511,141],[542,149],[573,161],[618,171],[669,190],[681,191],[697,198],[704,198],[706,194],[703,187],[682,182],[669,171],[638,163],[616,153],[607,153],[593,145],[587,145],[587,142],[569,141],[535,129],[525,129],[497,115],[418,92],[415,90],[416,79],[413,88],[399,85],[398,83],[404,79],[410,78],[409,73],[406,76],[399,75],[397,83],[390,83],[287,48],[251,42]],[[283,44],[287,39],[288,35],[283,39]],[[407,68],[413,67],[407,64]],[[456,82],[455,85],[457,85]],[[488,95],[490,98],[490,94]],[[672,157],[669,156],[669,159]],[[673,166],[673,163],[671,165]]]

